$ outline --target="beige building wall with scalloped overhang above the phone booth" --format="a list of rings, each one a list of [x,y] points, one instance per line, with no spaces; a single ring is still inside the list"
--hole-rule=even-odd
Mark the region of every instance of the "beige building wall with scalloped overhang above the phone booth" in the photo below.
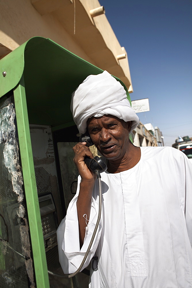
[[[34,36],[50,38],[120,78],[133,92],[128,57],[105,14],[91,16],[97,0],[6,0],[0,2],[0,58]],[[101,11],[102,8],[100,8]]]

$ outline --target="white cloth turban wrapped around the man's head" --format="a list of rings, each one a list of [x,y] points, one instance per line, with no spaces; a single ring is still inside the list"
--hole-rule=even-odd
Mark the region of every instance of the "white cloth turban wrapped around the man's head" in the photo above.
[[[103,115],[113,115],[125,122],[133,121],[131,131],[139,118],[131,108],[124,87],[107,71],[89,75],[72,93],[71,111],[80,134],[87,130],[87,120]]]

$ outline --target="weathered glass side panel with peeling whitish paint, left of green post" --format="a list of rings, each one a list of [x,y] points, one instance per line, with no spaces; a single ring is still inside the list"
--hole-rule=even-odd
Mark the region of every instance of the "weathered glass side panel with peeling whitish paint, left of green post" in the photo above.
[[[4,99],[0,104],[0,287],[35,288],[15,108],[12,96]]]

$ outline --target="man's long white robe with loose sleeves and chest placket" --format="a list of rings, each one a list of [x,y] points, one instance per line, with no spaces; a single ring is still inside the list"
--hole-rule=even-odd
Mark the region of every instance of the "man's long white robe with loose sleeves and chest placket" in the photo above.
[[[172,147],[141,147],[135,167],[117,174],[104,172],[101,181],[101,221],[83,266],[96,252],[98,269],[91,269],[89,287],[192,287],[192,165],[185,154]],[[80,250],[78,192],[79,184],[57,230],[64,273],[80,266],[97,221],[96,181]]]

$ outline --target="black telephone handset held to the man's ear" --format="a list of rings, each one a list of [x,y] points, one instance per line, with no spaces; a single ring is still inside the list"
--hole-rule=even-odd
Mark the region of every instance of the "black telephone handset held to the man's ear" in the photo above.
[[[93,142],[91,141],[91,137],[89,136],[88,132],[80,136],[79,141],[87,142],[88,147],[93,145]],[[100,175],[100,173],[98,172],[104,172],[107,170],[107,166],[98,156],[95,156],[93,159],[90,159],[89,157],[85,157],[84,161],[85,161],[85,164],[89,167],[89,169],[91,169],[93,173],[97,175],[97,178],[99,177],[98,174]]]

